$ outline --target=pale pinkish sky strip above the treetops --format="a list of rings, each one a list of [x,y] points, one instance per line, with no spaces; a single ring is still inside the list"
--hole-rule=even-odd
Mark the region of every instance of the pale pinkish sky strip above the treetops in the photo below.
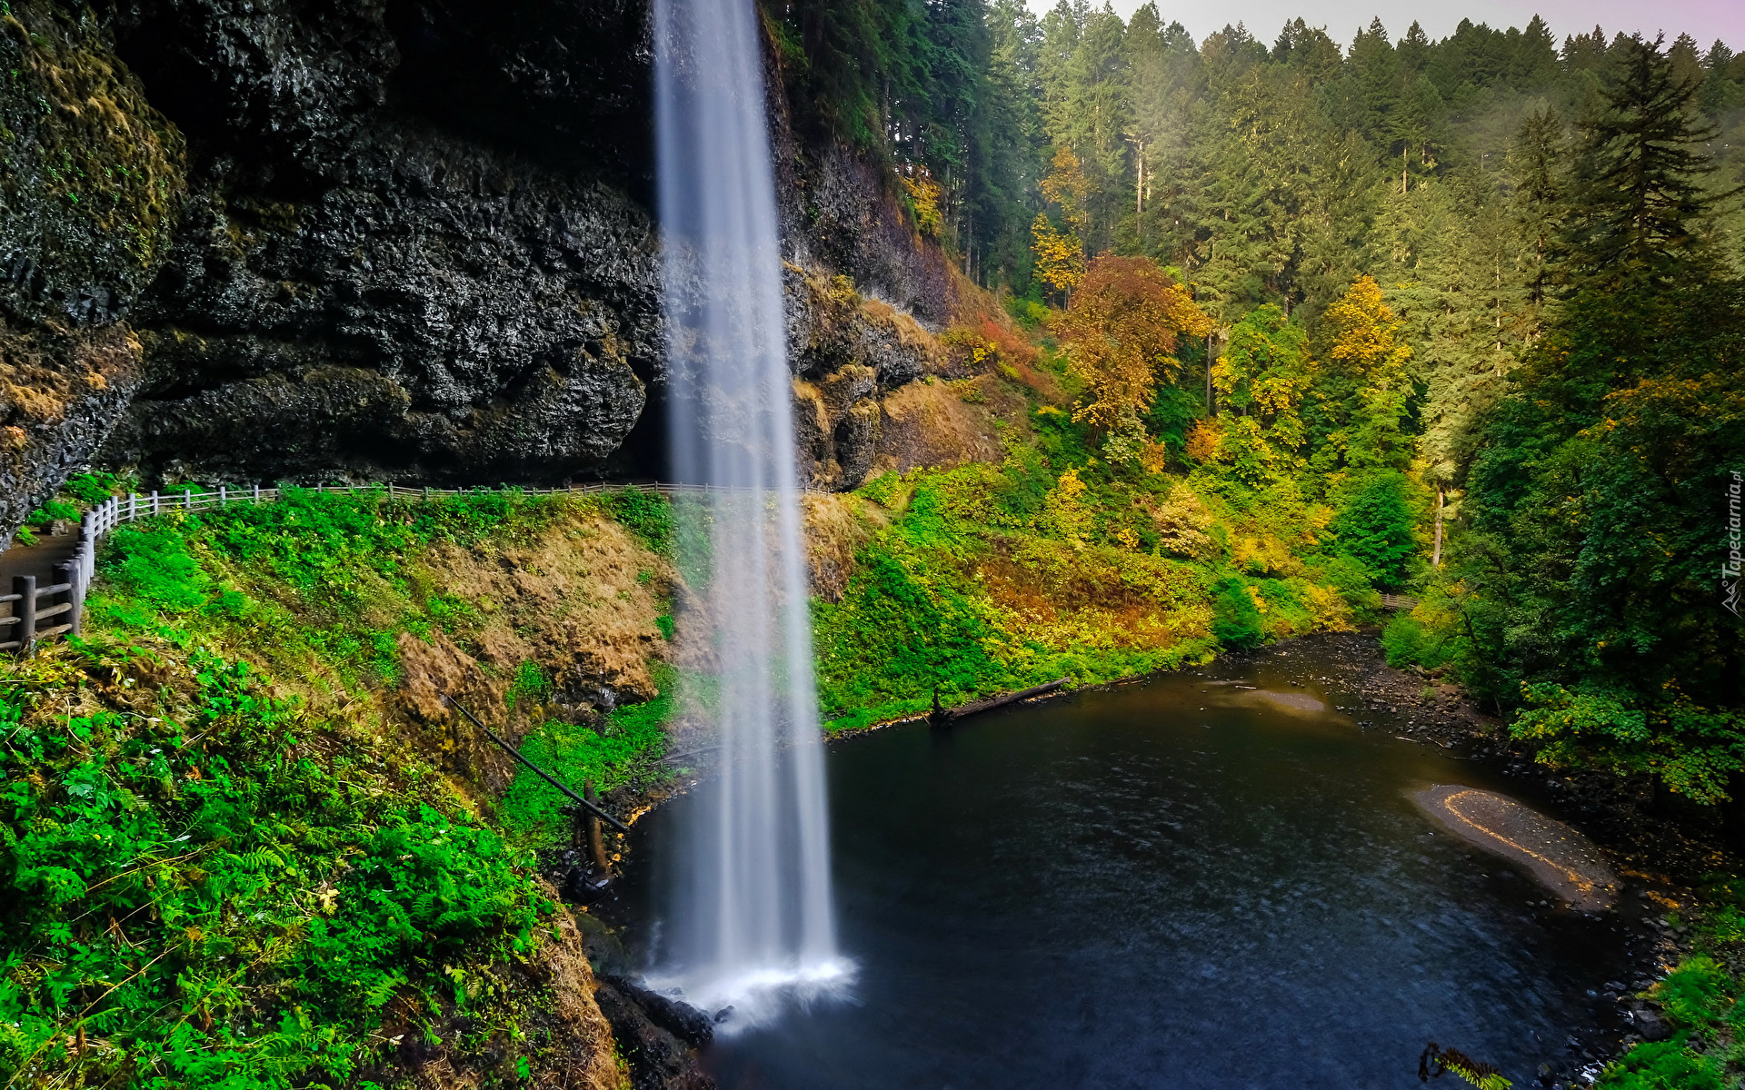
[[[1122,17],[1133,14],[1145,0],[1110,0]],[[1054,7],[1054,0],[1028,0],[1038,16]],[[1092,0],[1101,3],[1101,0]],[[1527,26],[1537,12],[1551,24],[1551,33],[1562,44],[1565,35],[1593,30],[1598,23],[1605,37],[1619,30],[1653,35],[1666,31],[1666,40],[1689,31],[1703,49],[1721,38],[1735,51],[1745,51],[1745,0],[1155,0],[1164,23],[1181,23],[1201,40],[1225,23],[1246,23],[1248,30],[1272,44],[1288,19],[1302,16],[1310,26],[1324,26],[1340,45],[1349,45],[1359,26],[1382,17],[1391,38],[1417,19],[1431,38],[1454,33],[1461,19],[1488,23],[1495,28]]]

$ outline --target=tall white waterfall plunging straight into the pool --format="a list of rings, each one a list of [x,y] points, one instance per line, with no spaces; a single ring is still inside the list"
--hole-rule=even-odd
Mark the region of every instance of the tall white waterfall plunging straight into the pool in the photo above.
[[[752,0],[660,0],[656,133],[672,453],[689,542],[681,656],[719,738],[688,807],[658,980],[742,1013],[841,975],[806,617],[763,63]]]

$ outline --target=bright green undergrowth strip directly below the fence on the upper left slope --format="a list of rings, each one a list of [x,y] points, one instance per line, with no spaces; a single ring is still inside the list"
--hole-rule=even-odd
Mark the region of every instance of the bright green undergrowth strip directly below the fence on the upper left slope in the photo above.
[[[415,563],[438,542],[529,541],[593,497],[480,490],[435,501],[286,488],[270,504],[168,513],[105,541],[92,623],[246,649],[281,680],[398,680],[396,640],[464,638],[478,609]]]

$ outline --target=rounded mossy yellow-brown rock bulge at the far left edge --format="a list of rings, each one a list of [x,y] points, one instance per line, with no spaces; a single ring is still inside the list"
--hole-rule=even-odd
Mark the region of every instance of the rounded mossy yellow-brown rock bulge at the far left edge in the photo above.
[[[140,382],[129,303],[168,249],[180,133],[89,19],[0,14],[0,534],[103,443]]]

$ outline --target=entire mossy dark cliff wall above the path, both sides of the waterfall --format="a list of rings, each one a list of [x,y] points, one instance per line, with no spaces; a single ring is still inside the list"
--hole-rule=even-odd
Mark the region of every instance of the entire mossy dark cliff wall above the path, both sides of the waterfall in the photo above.
[[[9,10],[0,530],[99,446],[150,481],[661,471],[644,0]],[[852,487],[961,291],[879,171],[773,133],[831,391],[803,471]]]

